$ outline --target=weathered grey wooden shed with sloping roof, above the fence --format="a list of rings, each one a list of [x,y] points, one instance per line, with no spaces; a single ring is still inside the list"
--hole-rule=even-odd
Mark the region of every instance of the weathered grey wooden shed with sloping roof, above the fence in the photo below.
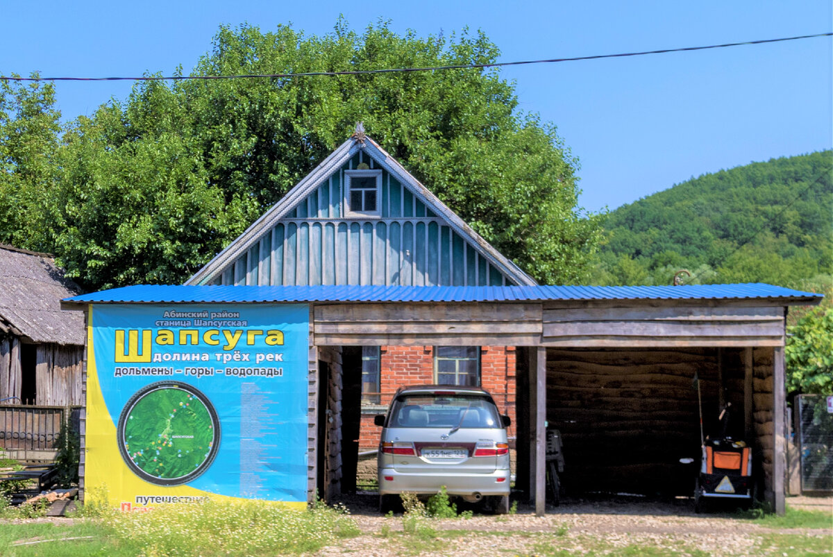
[[[61,311],[80,289],[47,253],[0,245],[0,404],[83,404],[84,321]]]

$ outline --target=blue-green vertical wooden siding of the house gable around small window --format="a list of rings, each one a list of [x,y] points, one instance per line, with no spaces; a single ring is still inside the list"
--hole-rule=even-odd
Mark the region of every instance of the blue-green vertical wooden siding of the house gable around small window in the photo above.
[[[344,171],[360,152],[211,284],[503,286],[516,284],[382,169],[380,216],[344,218]]]

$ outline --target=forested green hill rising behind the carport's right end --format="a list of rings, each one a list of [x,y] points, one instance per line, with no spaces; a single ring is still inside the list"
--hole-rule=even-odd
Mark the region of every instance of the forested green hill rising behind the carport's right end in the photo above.
[[[833,152],[704,174],[611,212],[596,284],[830,284]]]

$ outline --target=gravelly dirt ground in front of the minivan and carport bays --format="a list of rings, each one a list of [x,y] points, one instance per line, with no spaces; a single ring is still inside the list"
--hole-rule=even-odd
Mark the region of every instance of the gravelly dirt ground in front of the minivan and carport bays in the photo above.
[[[426,519],[436,535],[432,542],[424,544],[413,535],[402,536],[402,515],[386,518],[378,513],[375,494],[345,496],[342,504],[350,509],[362,535],[327,547],[320,552],[322,555],[547,555],[559,554],[561,550],[605,554],[611,547],[626,554],[640,554],[639,548],[650,548],[658,552],[653,554],[759,555],[771,554],[766,547],[770,534],[833,534],[831,497],[789,501],[791,508],[830,513],[830,529],[766,528],[737,518],[734,509],[728,508],[695,514],[693,501],[686,498],[653,500],[606,495],[563,500],[558,507],[548,507],[543,517],[536,517],[531,507],[521,504],[516,514],[505,516]],[[824,553],[833,554],[833,547]]]

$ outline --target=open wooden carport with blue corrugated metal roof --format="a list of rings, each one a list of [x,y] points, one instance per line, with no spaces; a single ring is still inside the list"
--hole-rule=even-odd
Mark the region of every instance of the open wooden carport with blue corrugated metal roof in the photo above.
[[[767,284],[167,286],[88,294],[65,307],[308,304],[310,497],[316,489],[325,498],[341,489],[342,409],[358,404],[342,396],[341,347],[494,344],[522,347],[517,484],[537,514],[545,510],[548,421],[564,429],[568,447],[574,444],[571,458],[576,468],[586,469],[584,481],[604,474],[612,480],[608,487],[616,489],[617,478],[626,486],[633,478],[669,474],[696,432],[683,392],[695,372],[704,385],[704,407],[731,401],[742,409],[743,431],[760,454],[765,498],[783,513],[786,311],[820,300]],[[691,431],[681,432],[683,427]],[[647,443],[630,452],[646,458],[616,458],[616,451],[640,439]],[[667,446],[657,449],[658,439],[666,439]]]

